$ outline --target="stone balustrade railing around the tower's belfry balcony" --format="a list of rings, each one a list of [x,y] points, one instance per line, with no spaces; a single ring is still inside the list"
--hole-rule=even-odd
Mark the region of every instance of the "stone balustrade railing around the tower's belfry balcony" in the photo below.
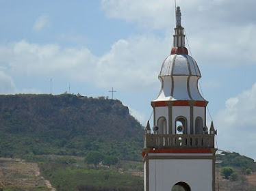
[[[214,148],[214,134],[144,134],[144,148]]]

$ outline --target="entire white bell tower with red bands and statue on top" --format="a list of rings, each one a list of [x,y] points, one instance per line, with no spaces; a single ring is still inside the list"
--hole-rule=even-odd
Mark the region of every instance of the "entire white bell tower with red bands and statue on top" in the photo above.
[[[153,134],[144,134],[144,191],[214,191],[213,123],[206,126],[205,100],[198,89],[201,72],[185,48],[177,7],[173,48],[159,73],[162,83],[153,107]]]

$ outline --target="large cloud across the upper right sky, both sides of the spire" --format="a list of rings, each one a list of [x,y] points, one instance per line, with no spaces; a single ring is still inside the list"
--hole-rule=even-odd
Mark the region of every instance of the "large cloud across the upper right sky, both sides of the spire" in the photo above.
[[[256,1],[190,0],[177,1],[177,5],[181,5],[183,27],[199,65],[233,67],[256,63],[251,43],[256,41]],[[136,23],[146,30],[172,31],[175,25],[175,5],[168,0],[102,0],[101,6],[107,16]],[[168,35],[171,39],[172,32]]]

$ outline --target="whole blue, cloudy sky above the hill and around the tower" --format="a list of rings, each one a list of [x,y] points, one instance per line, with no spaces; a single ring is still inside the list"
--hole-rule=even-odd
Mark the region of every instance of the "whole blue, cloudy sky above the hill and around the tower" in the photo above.
[[[177,5],[218,148],[256,160],[256,1]],[[0,26],[1,94],[111,98],[113,87],[146,126],[172,48],[174,0],[1,0]]]

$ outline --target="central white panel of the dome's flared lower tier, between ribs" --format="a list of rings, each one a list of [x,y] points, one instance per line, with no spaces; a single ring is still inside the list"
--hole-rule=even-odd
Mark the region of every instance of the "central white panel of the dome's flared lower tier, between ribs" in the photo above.
[[[191,100],[187,88],[188,76],[173,76],[174,89],[172,97],[175,100]]]

